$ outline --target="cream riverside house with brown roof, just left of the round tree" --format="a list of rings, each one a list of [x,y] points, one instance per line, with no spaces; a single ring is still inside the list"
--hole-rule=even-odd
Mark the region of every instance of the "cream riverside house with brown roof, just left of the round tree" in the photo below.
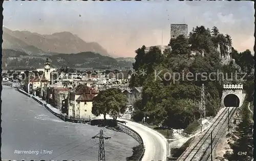
[[[79,84],[69,95],[68,116],[76,119],[93,119],[92,101],[98,92],[86,84]]]

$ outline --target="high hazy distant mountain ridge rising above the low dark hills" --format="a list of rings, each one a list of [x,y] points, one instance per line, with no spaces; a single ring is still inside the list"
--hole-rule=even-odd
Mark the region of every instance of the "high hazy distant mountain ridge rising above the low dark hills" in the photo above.
[[[41,35],[29,31],[12,31],[3,27],[3,49],[25,52],[28,55],[56,55],[94,52],[111,56],[97,42],[86,42],[70,32]]]

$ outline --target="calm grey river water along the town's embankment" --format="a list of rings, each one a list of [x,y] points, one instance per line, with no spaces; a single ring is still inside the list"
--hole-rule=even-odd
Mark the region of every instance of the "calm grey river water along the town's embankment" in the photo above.
[[[64,122],[13,88],[2,91],[2,159],[98,160],[103,129],[106,160],[126,160],[139,145],[131,136],[86,124]],[[27,154],[26,154],[26,151]]]

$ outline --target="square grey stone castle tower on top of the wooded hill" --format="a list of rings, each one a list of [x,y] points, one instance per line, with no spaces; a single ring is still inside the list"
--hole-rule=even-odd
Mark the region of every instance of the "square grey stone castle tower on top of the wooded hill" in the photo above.
[[[170,24],[170,38],[176,38],[179,35],[188,35],[187,24]]]

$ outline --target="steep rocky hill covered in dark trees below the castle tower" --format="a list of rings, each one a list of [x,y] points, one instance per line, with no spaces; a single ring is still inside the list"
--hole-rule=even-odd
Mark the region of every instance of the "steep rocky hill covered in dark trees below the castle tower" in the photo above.
[[[199,119],[201,86],[205,86],[206,116],[215,116],[221,106],[222,86],[226,83],[243,83],[252,99],[253,57],[249,50],[238,53],[232,48],[229,35],[219,33],[217,27],[194,28],[188,38],[183,35],[170,39],[172,50],[163,54],[158,48],[145,53],[143,45],[136,51],[135,71],[146,71],[146,75],[132,76],[131,86],[142,86],[142,97],[135,103],[133,119],[141,121],[149,117],[147,123],[186,128]],[[231,53],[230,53],[231,52]],[[228,59],[223,63],[223,59]],[[234,59],[234,61],[232,60]],[[227,77],[217,77],[217,71],[227,73]],[[247,81],[230,79],[231,73],[247,72]],[[186,77],[186,75],[193,75]],[[202,74],[206,73],[206,79]],[[216,73],[211,75],[210,73]],[[180,74],[180,78],[178,77]],[[184,75],[184,79],[182,79]],[[243,75],[238,75],[241,79]]]

